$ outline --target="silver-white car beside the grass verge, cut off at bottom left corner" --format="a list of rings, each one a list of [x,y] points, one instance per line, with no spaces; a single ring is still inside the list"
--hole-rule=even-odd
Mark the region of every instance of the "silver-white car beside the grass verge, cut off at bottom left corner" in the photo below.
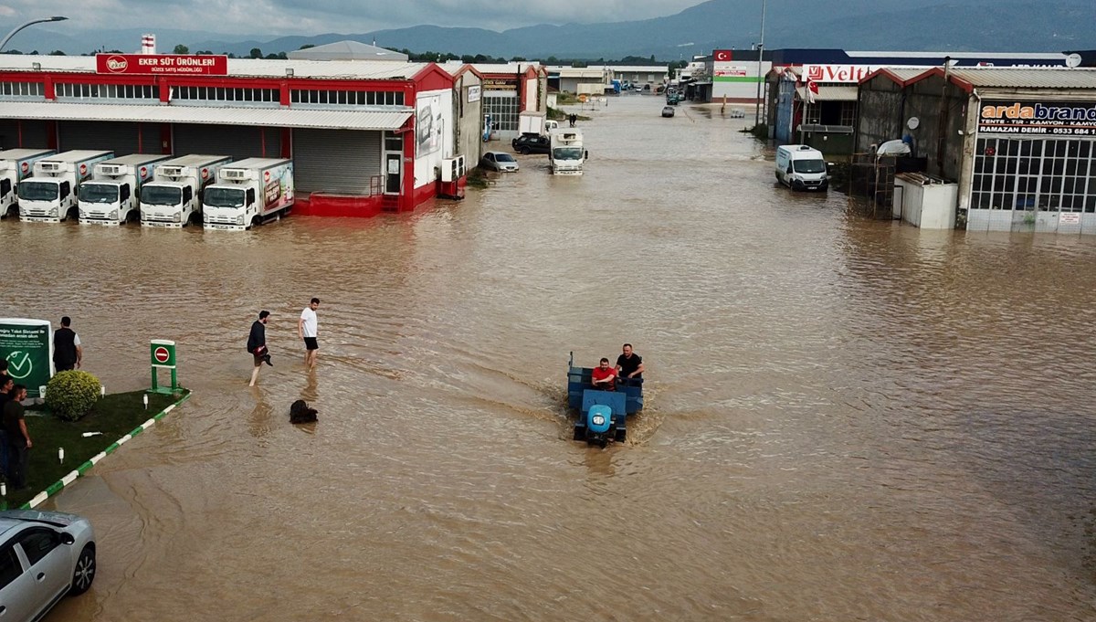
[[[95,578],[88,519],[59,511],[0,511],[0,620],[39,620]]]

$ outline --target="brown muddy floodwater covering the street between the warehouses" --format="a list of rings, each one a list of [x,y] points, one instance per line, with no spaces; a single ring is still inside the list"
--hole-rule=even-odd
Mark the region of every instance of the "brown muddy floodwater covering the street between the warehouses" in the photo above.
[[[414,215],[0,223],[0,314],[72,315],[112,391],[176,339],[195,391],[47,504],[100,538],[49,620],[1093,619],[1096,245],[865,219],[662,105]],[[568,353],[625,341],[647,410],[586,449]]]

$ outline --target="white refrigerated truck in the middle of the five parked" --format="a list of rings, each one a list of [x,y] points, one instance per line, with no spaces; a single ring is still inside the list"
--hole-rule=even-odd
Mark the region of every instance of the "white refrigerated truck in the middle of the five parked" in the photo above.
[[[152,165],[170,157],[134,153],[95,164],[91,178],[77,191],[80,223],[122,224],[138,220],[140,188],[152,178]]]

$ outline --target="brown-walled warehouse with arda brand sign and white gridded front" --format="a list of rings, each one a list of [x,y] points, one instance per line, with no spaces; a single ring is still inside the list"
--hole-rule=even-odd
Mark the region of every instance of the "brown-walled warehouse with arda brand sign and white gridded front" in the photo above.
[[[858,150],[909,134],[957,226],[1096,234],[1096,69],[880,71],[859,104]]]

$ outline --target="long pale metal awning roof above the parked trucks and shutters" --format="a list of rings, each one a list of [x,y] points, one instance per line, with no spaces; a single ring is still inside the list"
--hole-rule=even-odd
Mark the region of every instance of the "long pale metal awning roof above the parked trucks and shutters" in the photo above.
[[[61,104],[0,102],[0,118],[47,120],[115,120],[151,123],[205,123],[264,127],[324,129],[399,129],[411,111],[302,111],[295,108],[232,108],[198,106],[127,106],[115,104]]]

